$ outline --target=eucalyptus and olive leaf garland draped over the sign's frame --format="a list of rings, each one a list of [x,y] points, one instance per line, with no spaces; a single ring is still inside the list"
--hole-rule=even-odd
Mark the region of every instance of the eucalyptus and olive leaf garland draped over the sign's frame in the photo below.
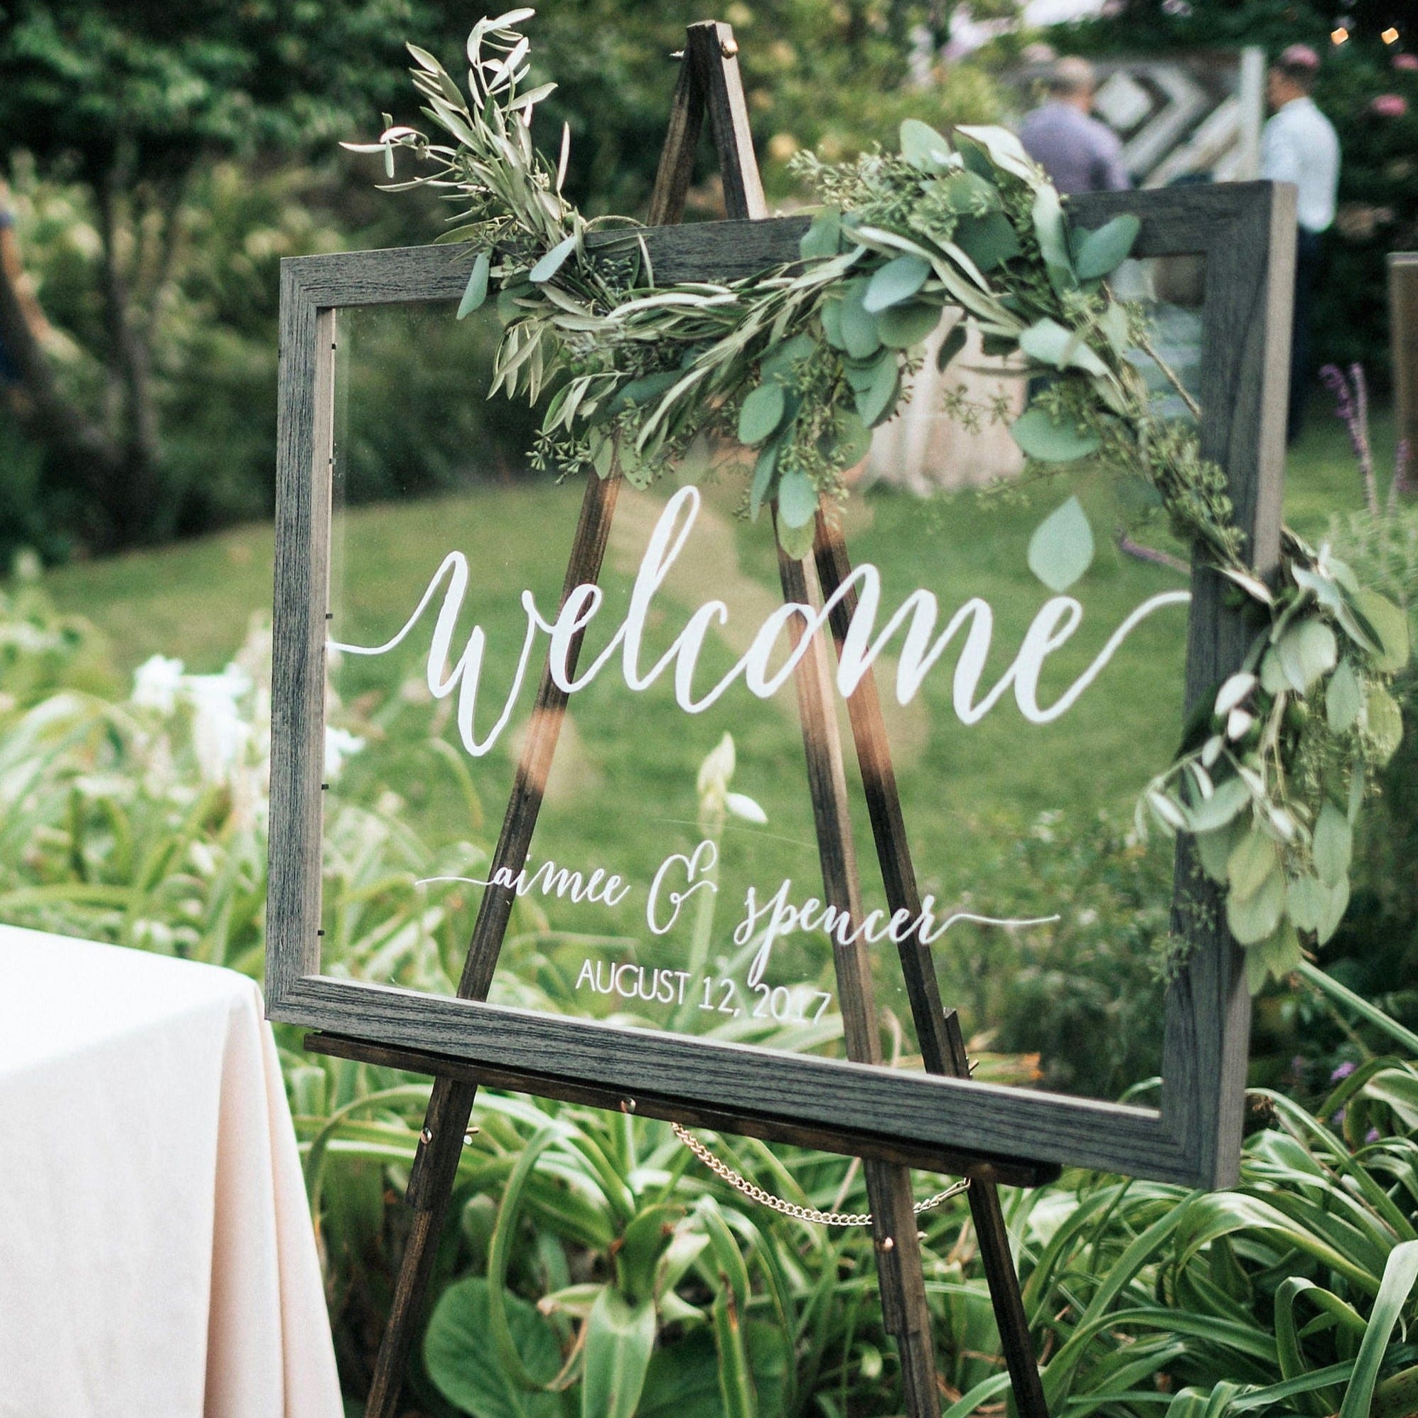
[[[1129,359],[1151,354],[1147,322],[1106,278],[1132,251],[1137,218],[1076,230],[1011,133],[959,128],[950,142],[908,119],[899,153],[797,160],[822,199],[801,261],[732,284],[658,285],[637,223],[587,220],[563,196],[569,132],[554,166],[532,146],[533,108],[554,88],[522,89],[529,41],[518,27],[532,14],[474,27],[467,94],[410,45],[424,112],[452,146],[387,118],[377,143],[347,146],[381,152],[390,179],[394,149],[411,149],[435,170],[389,190],[431,187],[462,208],[442,240],[475,251],[459,318],[496,291],[505,330],[492,393],[536,401],[559,380],[537,467],[614,469],[645,485],[702,434],[736,438],[759,450],[749,515],[776,502],[781,545],[805,556],[820,495],[844,493],[844,471],[896,411],[925,339],[947,308],[963,311],[940,367],[967,326],[987,353],[1022,356],[1024,373],[1044,377],[1011,425],[1029,462],[1096,459],[1150,489],[1256,627],[1244,666],[1205,696],[1176,760],[1144,788],[1139,830],[1150,818],[1194,835],[1252,988],[1297,966],[1302,940],[1329,940],[1349,902],[1360,805],[1402,735],[1388,683],[1408,661],[1407,620],[1289,530],[1276,574],[1251,573],[1224,472],[1200,457],[1193,425],[1157,413]],[[586,237],[597,228],[621,235],[593,261]],[[1055,588],[1071,580],[1061,573]]]

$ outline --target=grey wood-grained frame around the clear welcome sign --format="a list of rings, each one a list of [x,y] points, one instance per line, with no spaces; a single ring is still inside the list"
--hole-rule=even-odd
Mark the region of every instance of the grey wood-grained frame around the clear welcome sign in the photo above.
[[[1236,522],[1261,574],[1279,557],[1283,425],[1295,262],[1295,191],[1271,183],[1075,199],[1096,227],[1143,223],[1137,254],[1205,257],[1202,454],[1228,474]],[[797,258],[805,218],[648,228],[658,279],[726,279]],[[1160,1107],[908,1073],[715,1039],[627,1029],[320,974],[323,686],[333,467],[336,312],[457,301],[457,248],[299,257],[281,271],[281,413],[272,658],[271,868],[267,1011],[391,1049],[427,1051],[540,1083],[562,1096],[593,1082],[627,1098],[712,1112],[744,1132],[794,1127],[818,1139],[898,1147],[959,1164],[1031,1159],[1205,1187],[1234,1183],[1239,1157],[1249,997],[1241,951],[1207,912],[1176,913],[1193,951],[1167,991]],[[1219,579],[1197,571],[1187,705],[1236,668],[1248,632]],[[1185,845],[1178,881],[1193,879]],[[1210,888],[1200,888],[1208,891]],[[1215,899],[1212,898],[1212,905]],[[1215,910],[1212,920],[1219,919]],[[560,1089],[560,1093],[557,1092]],[[821,1144],[821,1140],[818,1141]]]

